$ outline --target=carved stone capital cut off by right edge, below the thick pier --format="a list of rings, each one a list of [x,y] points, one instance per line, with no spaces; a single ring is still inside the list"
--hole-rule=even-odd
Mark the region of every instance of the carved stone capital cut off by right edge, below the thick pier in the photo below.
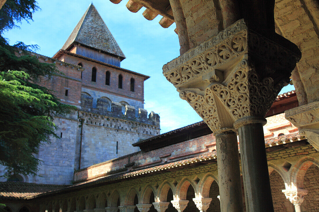
[[[285,118],[298,127],[299,134],[319,151],[319,102],[312,102],[286,110]]]

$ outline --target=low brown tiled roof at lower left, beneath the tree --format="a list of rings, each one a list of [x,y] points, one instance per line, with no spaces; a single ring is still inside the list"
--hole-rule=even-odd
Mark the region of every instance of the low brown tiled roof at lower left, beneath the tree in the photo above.
[[[26,196],[53,191],[65,185],[47,185],[26,182],[0,182],[0,200],[25,199]]]

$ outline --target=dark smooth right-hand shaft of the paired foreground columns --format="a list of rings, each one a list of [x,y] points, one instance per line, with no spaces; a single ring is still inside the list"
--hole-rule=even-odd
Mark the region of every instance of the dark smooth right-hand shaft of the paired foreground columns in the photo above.
[[[247,212],[274,211],[261,123],[238,128]],[[221,199],[222,200],[222,199]]]

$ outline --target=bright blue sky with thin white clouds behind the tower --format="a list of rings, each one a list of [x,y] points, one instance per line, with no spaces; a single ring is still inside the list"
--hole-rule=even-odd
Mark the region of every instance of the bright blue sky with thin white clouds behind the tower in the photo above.
[[[34,21],[30,24],[23,22],[20,29],[5,32],[4,37],[11,44],[16,41],[37,44],[41,48],[37,53],[52,57],[63,46],[91,0],[37,2],[41,10],[33,14]],[[158,23],[162,18],[160,15],[149,21],[142,15],[144,7],[132,13],[126,8],[126,3],[126,0],[120,4],[108,0],[93,1],[126,56],[121,67],[151,76],[144,84],[145,109],[159,113],[161,133],[201,121],[162,74],[162,66],[179,56],[175,23],[164,29]],[[293,89],[288,85],[281,93]]]

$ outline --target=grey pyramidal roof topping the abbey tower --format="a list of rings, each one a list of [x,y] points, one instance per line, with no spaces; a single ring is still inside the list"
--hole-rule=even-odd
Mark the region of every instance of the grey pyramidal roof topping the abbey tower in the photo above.
[[[120,56],[121,60],[125,58],[121,48],[93,4],[90,4],[87,8],[62,49],[67,50],[74,42],[115,54]]]

